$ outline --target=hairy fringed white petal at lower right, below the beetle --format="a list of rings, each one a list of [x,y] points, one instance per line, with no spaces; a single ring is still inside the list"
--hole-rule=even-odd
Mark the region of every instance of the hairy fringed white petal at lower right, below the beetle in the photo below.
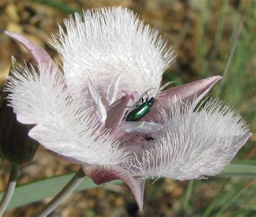
[[[218,174],[252,135],[245,121],[219,100],[196,111],[196,103],[181,104],[173,106],[171,118],[163,117],[167,127],[154,146],[125,165],[134,175],[187,180]]]

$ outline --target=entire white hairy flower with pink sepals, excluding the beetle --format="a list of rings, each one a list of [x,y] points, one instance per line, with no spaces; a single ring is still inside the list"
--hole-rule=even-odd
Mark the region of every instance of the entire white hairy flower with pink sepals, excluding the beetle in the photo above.
[[[218,174],[251,136],[241,117],[221,101],[196,108],[220,76],[161,91],[172,52],[132,11],[88,10],[64,24],[66,30],[59,26],[51,41],[62,56],[64,76],[42,48],[6,32],[38,64],[9,78],[6,91],[12,92],[17,120],[36,125],[31,138],[82,164],[97,184],[125,181],[140,210],[143,177],[185,180]],[[128,106],[146,95],[156,97],[149,114],[125,121],[134,108]]]

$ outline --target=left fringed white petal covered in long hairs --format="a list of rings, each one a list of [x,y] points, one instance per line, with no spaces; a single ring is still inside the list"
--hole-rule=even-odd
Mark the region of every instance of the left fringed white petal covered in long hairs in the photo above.
[[[58,154],[87,164],[119,164],[127,153],[118,148],[109,133],[102,131],[92,109],[74,100],[61,75],[39,68],[31,72],[23,67],[9,78],[6,91],[17,119],[23,124],[36,124],[30,137]]]

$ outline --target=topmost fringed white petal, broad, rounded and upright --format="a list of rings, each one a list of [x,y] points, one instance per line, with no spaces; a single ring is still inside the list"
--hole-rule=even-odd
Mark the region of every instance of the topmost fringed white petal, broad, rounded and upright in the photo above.
[[[62,56],[68,85],[77,94],[83,93],[88,76],[106,92],[119,74],[122,90],[140,94],[151,87],[158,90],[161,76],[173,60],[158,31],[126,8],[76,13],[64,25],[66,32],[59,26],[51,43]]]

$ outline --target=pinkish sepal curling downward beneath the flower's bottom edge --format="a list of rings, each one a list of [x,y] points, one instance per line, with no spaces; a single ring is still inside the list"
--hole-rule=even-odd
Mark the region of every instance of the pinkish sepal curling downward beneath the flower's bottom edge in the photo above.
[[[136,199],[139,211],[142,211],[145,185],[144,179],[133,178],[130,173],[126,171],[126,169],[113,165],[109,165],[107,168],[99,165],[83,165],[83,171],[87,177],[91,178],[97,185],[116,179],[120,179],[125,182],[125,184],[131,189],[134,198]]]

